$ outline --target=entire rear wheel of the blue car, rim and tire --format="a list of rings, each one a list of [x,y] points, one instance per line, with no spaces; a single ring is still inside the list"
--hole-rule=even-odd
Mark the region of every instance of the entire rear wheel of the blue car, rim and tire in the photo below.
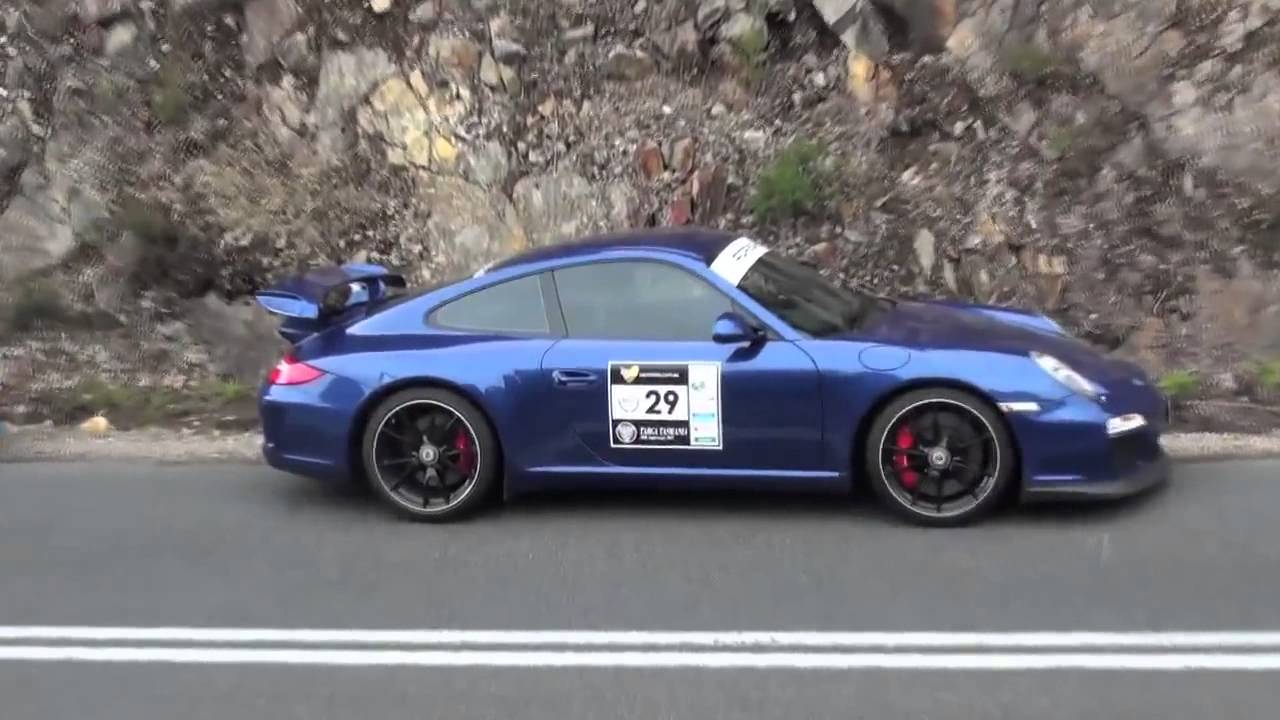
[[[402,516],[444,523],[475,511],[498,478],[498,443],[479,409],[439,388],[410,388],[370,414],[365,475]]]

